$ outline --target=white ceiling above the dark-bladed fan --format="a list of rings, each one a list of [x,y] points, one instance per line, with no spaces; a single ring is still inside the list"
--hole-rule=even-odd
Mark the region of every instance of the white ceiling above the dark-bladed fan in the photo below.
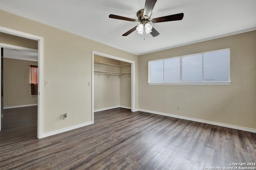
[[[137,55],[256,30],[256,0],[158,0],[151,18],[184,13],[181,21],[152,23],[157,37],[134,31],[137,22],[108,18],[115,14],[137,19],[145,0],[0,0],[0,9],[72,31],[83,37]]]

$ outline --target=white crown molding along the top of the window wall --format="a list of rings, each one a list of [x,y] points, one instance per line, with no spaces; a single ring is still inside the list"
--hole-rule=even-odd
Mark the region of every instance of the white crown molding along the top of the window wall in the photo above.
[[[256,27],[252,27],[252,28],[249,28],[249,29],[243,29],[243,30],[240,30],[240,31],[235,31],[235,32],[232,32],[232,33],[226,33],[226,34],[218,35],[218,36],[215,36],[215,37],[209,37],[209,38],[206,38],[206,39],[199,39],[197,41],[191,41],[191,42],[188,42],[188,43],[178,44],[178,45],[174,45],[174,46],[171,46],[171,47],[156,49],[156,50],[148,51],[148,52],[145,52],[145,53],[139,53],[138,55],[155,53],[155,52],[158,52],[158,51],[173,49],[173,48],[182,47],[182,46],[185,46],[185,45],[191,45],[191,44],[195,44],[195,43],[201,43],[201,42],[204,42],[204,41],[210,41],[210,40],[213,40],[213,39],[228,37],[228,36],[237,35],[237,34],[246,33],[246,32],[255,31],[255,30],[256,30]]]

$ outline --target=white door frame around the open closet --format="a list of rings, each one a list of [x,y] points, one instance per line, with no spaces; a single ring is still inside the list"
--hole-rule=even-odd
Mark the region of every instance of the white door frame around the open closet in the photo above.
[[[106,57],[106,58],[110,58],[110,59],[114,59],[114,60],[118,60],[118,61],[124,61],[126,63],[131,63],[131,111],[134,112],[135,111],[135,62],[134,61],[130,61],[127,59],[122,59],[119,57],[115,57],[112,55],[107,55],[104,53],[99,53],[96,51],[92,51],[92,123],[94,123],[94,55],[99,55],[102,57]]]

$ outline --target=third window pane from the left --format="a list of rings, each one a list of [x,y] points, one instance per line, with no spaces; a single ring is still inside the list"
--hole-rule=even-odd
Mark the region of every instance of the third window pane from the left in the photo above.
[[[182,57],[182,82],[202,82],[202,54]]]

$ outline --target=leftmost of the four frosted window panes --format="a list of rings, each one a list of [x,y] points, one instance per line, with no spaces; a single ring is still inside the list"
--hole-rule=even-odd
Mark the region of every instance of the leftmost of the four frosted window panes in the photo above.
[[[151,61],[150,62],[150,82],[158,83],[164,82],[164,61]]]

